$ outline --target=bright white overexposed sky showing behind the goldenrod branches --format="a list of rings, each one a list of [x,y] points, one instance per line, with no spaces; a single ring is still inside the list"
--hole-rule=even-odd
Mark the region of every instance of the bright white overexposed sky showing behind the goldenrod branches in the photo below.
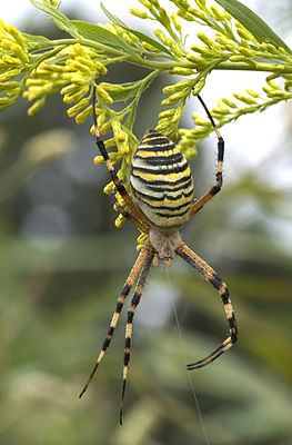
[[[282,1],[283,0],[280,2]],[[161,0],[161,3],[168,4],[168,8],[172,8],[172,3],[167,0]],[[272,28],[274,28],[275,32],[280,33],[281,36],[279,20],[276,23],[276,16],[274,13],[275,9],[273,9],[271,4],[269,8],[266,8],[265,2],[262,0],[245,0],[243,3],[251,8],[254,12],[259,13]],[[105,0],[104,4],[109,10],[111,10],[114,14],[118,14],[129,24],[132,20],[135,20],[135,22],[138,20],[129,13],[129,8],[138,7],[143,9],[138,0]],[[108,21],[107,17],[101,12],[99,1],[80,0],[77,2],[74,0],[63,0],[60,10],[66,12],[66,10],[70,8],[80,8],[82,11],[82,18],[84,17],[91,22],[98,22],[101,20],[103,22]],[[21,28],[21,23],[24,22],[28,17],[31,20],[46,20],[46,16],[41,11],[36,10],[29,0],[2,1],[0,10],[1,18],[6,22],[19,27],[20,30],[23,30]],[[175,10],[175,8],[173,8],[173,10]],[[94,17],[97,17],[97,20],[94,20]],[[102,19],[102,17],[104,17],[104,19]],[[150,28],[151,24],[152,23],[149,21],[143,21],[144,27]],[[185,26],[188,26],[188,23]],[[193,30],[190,28],[190,30],[184,32],[191,36],[197,31],[197,29]],[[150,30],[149,32],[152,31]],[[291,36],[285,34],[285,37],[281,37],[289,44]],[[234,76],[233,72],[213,71],[208,78],[207,86],[203,90],[203,98],[209,108],[212,108],[217,100],[221,99],[222,97],[232,99],[233,92],[236,91],[244,93],[245,88],[252,88],[255,91],[261,92],[265,76],[266,75],[264,73],[253,72],[236,72],[236,76]],[[193,102],[190,102],[190,116],[194,110],[193,107]],[[285,144],[288,144],[285,140],[288,139],[285,137],[285,128],[289,125],[289,120],[285,119],[285,116],[290,116],[288,107],[289,106],[285,103],[281,103],[268,109],[263,113],[256,113],[256,116],[244,116],[236,122],[225,126],[222,129],[226,150],[232,151],[232,155],[229,156],[228,154],[225,165],[225,168],[231,171],[230,178],[232,178],[232,175],[234,175],[233,177],[236,176],[239,172],[238,169],[244,171],[244,169],[259,168],[259,166],[266,160],[269,155],[273,152],[275,147],[283,147]],[[188,123],[190,126],[192,125],[191,118]],[[215,139],[211,139],[210,144],[215,146]],[[230,162],[230,165],[228,162]],[[279,168],[281,170],[280,174]],[[279,185],[291,186],[291,166],[288,166],[286,160],[283,159],[283,162],[279,168],[278,171],[275,171],[275,177],[272,178],[272,180]]]

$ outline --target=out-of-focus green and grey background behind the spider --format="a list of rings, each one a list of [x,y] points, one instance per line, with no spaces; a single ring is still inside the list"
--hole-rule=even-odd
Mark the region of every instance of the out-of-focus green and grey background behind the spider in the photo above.
[[[47,26],[26,22],[22,29],[52,37]],[[137,67],[119,66],[107,81],[142,76]],[[155,126],[168,83],[157,81],[143,97],[138,137]],[[195,101],[189,111],[194,109]],[[92,162],[90,123],[74,125],[57,96],[33,118],[26,110],[19,101],[0,117],[1,445],[205,444],[192,385],[210,444],[292,444],[291,105],[280,107],[269,126],[272,139],[279,126],[281,136],[260,161],[236,154],[224,128],[224,187],[183,229],[184,241],[230,287],[239,343],[191,373],[191,385],[185,364],[228,335],[221,300],[179,258],[170,278],[163,266],[152,268],[134,319],[123,427],[124,315],[94,380],[82,399],[78,394],[137,256],[138,231],[130,224],[114,228],[117,214],[102,194],[105,168]],[[245,127],[239,121],[233,131],[246,139],[246,157],[254,151],[256,159],[256,120],[265,117],[244,119]],[[192,125],[189,116],[184,125]],[[213,136],[199,147],[192,168],[199,197],[214,181]]]

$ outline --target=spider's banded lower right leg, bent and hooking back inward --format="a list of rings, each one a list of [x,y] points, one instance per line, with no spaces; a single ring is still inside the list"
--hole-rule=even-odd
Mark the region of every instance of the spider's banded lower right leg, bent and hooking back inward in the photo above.
[[[236,328],[233,307],[229,296],[229,290],[225,283],[212,269],[212,267],[210,267],[202,258],[200,258],[194,251],[192,251],[188,246],[185,246],[185,244],[180,243],[175,253],[182,259],[189,263],[192,267],[194,267],[203,276],[203,278],[219,291],[223,303],[225,316],[229,323],[230,336],[210,355],[208,355],[207,357],[204,357],[199,362],[191,363],[190,365],[187,366],[189,370],[192,370],[209,365],[210,363],[214,362],[218,357],[220,357],[221,354],[230,349],[238,339],[238,328]]]

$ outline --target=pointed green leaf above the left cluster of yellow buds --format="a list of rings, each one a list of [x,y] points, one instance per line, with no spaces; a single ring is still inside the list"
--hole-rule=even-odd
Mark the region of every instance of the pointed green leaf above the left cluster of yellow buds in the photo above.
[[[85,23],[81,20],[70,20],[70,23],[85,39],[97,41],[113,49],[120,49],[130,56],[135,56],[133,48],[118,36],[98,24]]]

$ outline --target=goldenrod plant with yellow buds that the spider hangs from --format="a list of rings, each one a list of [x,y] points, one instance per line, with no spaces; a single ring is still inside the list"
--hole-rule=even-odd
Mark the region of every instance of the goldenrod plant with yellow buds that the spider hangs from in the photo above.
[[[266,107],[292,97],[292,51],[254,12],[236,0],[169,0],[177,12],[169,13],[159,0],[139,0],[142,9],[130,8],[137,19],[135,29],[101,9],[110,20],[107,24],[91,24],[69,20],[60,12],[56,0],[30,0],[46,12],[69,37],[50,40],[43,36],[20,32],[0,22],[0,109],[11,106],[20,96],[31,103],[30,116],[38,112],[49,95],[60,92],[70,105],[68,116],[77,123],[92,115],[93,86],[97,90],[95,111],[105,148],[113,164],[121,161],[119,178],[129,191],[129,167],[138,139],[132,132],[138,103],[143,91],[158,77],[173,75],[174,83],[163,88],[165,110],[158,116],[155,129],[171,140],[187,158],[197,152],[197,145],[211,131],[209,120],[193,115],[194,129],[180,128],[187,100],[197,96],[213,70],[244,70],[266,72],[262,91],[246,88],[222,98],[211,110],[218,127],[242,115],[262,111]],[[173,6],[172,4],[172,6]],[[141,31],[140,20],[153,24],[153,37]],[[184,22],[192,23],[193,34],[184,36]],[[200,26],[200,27],[199,27]],[[207,31],[198,29],[205,27]],[[190,28],[189,28],[190,29]],[[199,38],[199,43],[198,43]],[[103,81],[114,63],[128,62],[149,69],[148,76],[122,85]],[[178,80],[178,76],[182,79]],[[217,93],[217,92],[214,92]],[[114,102],[123,107],[115,111]],[[114,148],[115,147],[115,148]],[[94,162],[104,160],[97,156]],[[105,194],[113,184],[105,186]],[[117,196],[123,206],[121,198]],[[120,215],[115,221],[123,221]],[[142,236],[143,237],[143,236]]]

